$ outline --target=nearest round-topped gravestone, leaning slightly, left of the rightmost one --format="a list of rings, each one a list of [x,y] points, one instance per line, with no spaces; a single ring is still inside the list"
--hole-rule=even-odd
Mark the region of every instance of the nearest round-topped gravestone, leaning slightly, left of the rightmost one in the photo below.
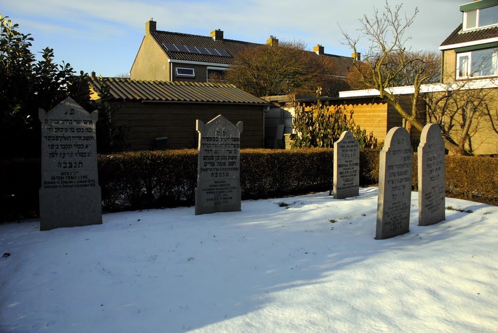
[[[393,127],[387,133],[378,173],[375,239],[385,239],[410,230],[413,149],[406,129]]]

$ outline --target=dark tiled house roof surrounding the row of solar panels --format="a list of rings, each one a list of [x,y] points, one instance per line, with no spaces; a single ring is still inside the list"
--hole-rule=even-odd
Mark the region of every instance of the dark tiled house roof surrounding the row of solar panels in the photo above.
[[[187,33],[179,32],[154,31],[150,34],[152,38],[154,38],[154,40],[157,42],[157,44],[163,49],[168,58],[174,60],[202,61],[230,65],[234,61],[233,57],[237,53],[245,50],[248,47],[257,47],[261,45],[232,39],[214,40],[212,37],[208,36],[190,35]],[[164,47],[164,43],[222,49],[227,51],[231,55],[231,57],[172,52],[168,51]]]

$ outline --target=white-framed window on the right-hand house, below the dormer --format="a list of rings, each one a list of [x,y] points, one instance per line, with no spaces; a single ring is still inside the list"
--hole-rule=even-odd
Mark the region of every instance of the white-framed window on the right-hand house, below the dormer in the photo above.
[[[498,75],[498,49],[483,49],[457,54],[457,79]]]

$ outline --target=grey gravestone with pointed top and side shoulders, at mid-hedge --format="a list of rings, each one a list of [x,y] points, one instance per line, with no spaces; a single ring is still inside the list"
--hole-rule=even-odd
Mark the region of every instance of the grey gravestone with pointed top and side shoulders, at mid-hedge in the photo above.
[[[197,120],[199,155],[195,215],[241,211],[240,141],[237,125],[223,115],[208,123]]]

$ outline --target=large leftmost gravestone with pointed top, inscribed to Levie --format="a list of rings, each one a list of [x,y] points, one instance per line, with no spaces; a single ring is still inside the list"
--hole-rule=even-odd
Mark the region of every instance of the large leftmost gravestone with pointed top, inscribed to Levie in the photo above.
[[[71,98],[41,122],[40,230],[102,224],[102,200],[97,172],[95,123],[91,114]]]

